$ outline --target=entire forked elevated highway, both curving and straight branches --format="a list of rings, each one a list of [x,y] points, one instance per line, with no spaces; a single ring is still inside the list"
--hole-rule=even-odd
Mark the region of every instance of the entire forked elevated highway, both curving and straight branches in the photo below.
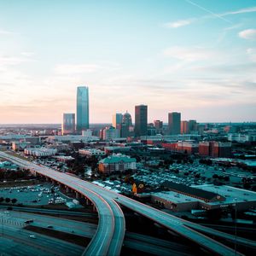
[[[12,160],[17,165],[29,168],[32,172],[49,177],[58,183],[62,183],[69,188],[78,191],[81,195],[90,198],[90,201],[92,201],[97,208],[99,223],[96,235],[90,241],[90,245],[84,251],[84,255],[119,255],[125,236],[125,218],[123,212],[114,201],[130,208],[134,212],[138,212],[139,214],[152,219],[155,223],[166,227],[168,230],[173,230],[177,234],[188,238],[190,241],[194,241],[212,253],[220,255],[235,254],[235,251],[232,248],[226,247],[224,244],[214,241],[210,237],[196,231],[195,226],[200,226],[198,224],[189,223],[188,221],[174,217],[166,212],[161,212],[153,207],[148,207],[143,203],[131,200],[124,195],[119,195],[108,189],[96,186],[93,183],[81,180],[78,177],[56,172],[49,167],[38,166],[3,152],[0,152],[0,155],[5,159]],[[198,230],[200,230],[200,228],[198,228]],[[216,230],[212,230],[212,234],[216,235],[216,233]],[[229,239],[232,239],[232,237],[229,237]],[[236,253],[236,255],[241,254]]]

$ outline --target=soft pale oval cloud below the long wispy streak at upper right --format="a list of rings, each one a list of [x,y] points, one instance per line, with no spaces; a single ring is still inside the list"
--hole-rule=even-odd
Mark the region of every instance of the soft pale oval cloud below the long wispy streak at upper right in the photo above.
[[[212,57],[213,52],[200,47],[173,46],[164,50],[164,55],[181,61],[202,61]]]

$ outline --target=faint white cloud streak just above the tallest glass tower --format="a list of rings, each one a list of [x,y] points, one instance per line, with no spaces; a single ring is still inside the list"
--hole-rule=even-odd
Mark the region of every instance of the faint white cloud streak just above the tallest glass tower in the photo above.
[[[94,73],[100,66],[96,64],[60,64],[55,67],[57,74]]]

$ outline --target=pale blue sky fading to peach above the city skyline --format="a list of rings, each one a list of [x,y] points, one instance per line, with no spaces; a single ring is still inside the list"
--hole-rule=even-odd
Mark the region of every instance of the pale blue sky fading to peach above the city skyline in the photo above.
[[[0,124],[256,121],[255,0],[0,0]],[[134,119],[133,119],[134,120]]]

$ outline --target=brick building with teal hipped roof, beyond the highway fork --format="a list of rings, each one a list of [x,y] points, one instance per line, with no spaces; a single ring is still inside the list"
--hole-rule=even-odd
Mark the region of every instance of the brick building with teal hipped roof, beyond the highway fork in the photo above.
[[[136,170],[136,159],[124,154],[113,154],[99,161],[99,172],[125,172]]]

